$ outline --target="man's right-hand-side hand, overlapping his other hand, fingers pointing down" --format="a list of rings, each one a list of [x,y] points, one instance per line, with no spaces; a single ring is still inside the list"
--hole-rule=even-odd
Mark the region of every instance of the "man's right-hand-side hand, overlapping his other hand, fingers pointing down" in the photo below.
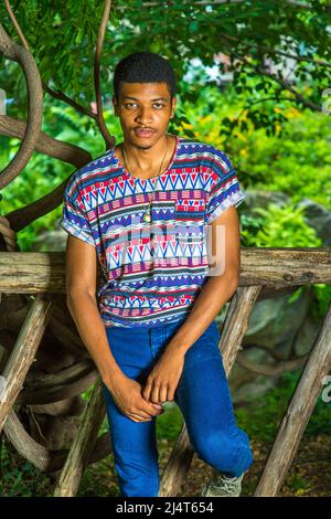
[[[163,403],[174,400],[179,380],[184,367],[184,353],[166,349],[149,373],[142,396],[148,402]]]

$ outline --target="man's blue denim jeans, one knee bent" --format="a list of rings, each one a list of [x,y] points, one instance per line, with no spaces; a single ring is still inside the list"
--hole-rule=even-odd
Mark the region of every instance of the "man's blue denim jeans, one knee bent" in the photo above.
[[[106,328],[121,371],[141,384],[182,321],[153,327]],[[218,349],[214,320],[189,348],[174,393],[197,456],[221,473],[239,476],[253,463],[246,433],[235,421],[231,393]],[[121,497],[158,497],[159,465],[156,420],[134,422],[103,384],[115,468]]]

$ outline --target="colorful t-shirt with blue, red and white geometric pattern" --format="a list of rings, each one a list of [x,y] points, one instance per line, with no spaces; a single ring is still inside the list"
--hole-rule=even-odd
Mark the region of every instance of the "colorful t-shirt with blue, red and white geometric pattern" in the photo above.
[[[209,279],[206,227],[245,198],[224,151],[180,136],[158,178],[134,177],[113,149],[75,171],[61,226],[96,247],[104,325],[147,327],[185,318]]]

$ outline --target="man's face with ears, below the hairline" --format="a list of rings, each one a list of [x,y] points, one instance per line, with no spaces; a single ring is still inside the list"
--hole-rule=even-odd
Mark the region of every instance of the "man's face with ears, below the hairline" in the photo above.
[[[152,147],[167,133],[175,103],[175,97],[170,102],[167,83],[124,83],[118,103],[113,96],[125,140],[143,149]]]

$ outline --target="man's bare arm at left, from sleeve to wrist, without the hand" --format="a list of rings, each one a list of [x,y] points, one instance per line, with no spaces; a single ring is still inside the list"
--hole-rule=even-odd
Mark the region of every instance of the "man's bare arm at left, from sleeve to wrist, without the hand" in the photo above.
[[[114,359],[96,300],[97,257],[93,245],[73,235],[66,246],[66,303],[103,381],[122,375]]]

